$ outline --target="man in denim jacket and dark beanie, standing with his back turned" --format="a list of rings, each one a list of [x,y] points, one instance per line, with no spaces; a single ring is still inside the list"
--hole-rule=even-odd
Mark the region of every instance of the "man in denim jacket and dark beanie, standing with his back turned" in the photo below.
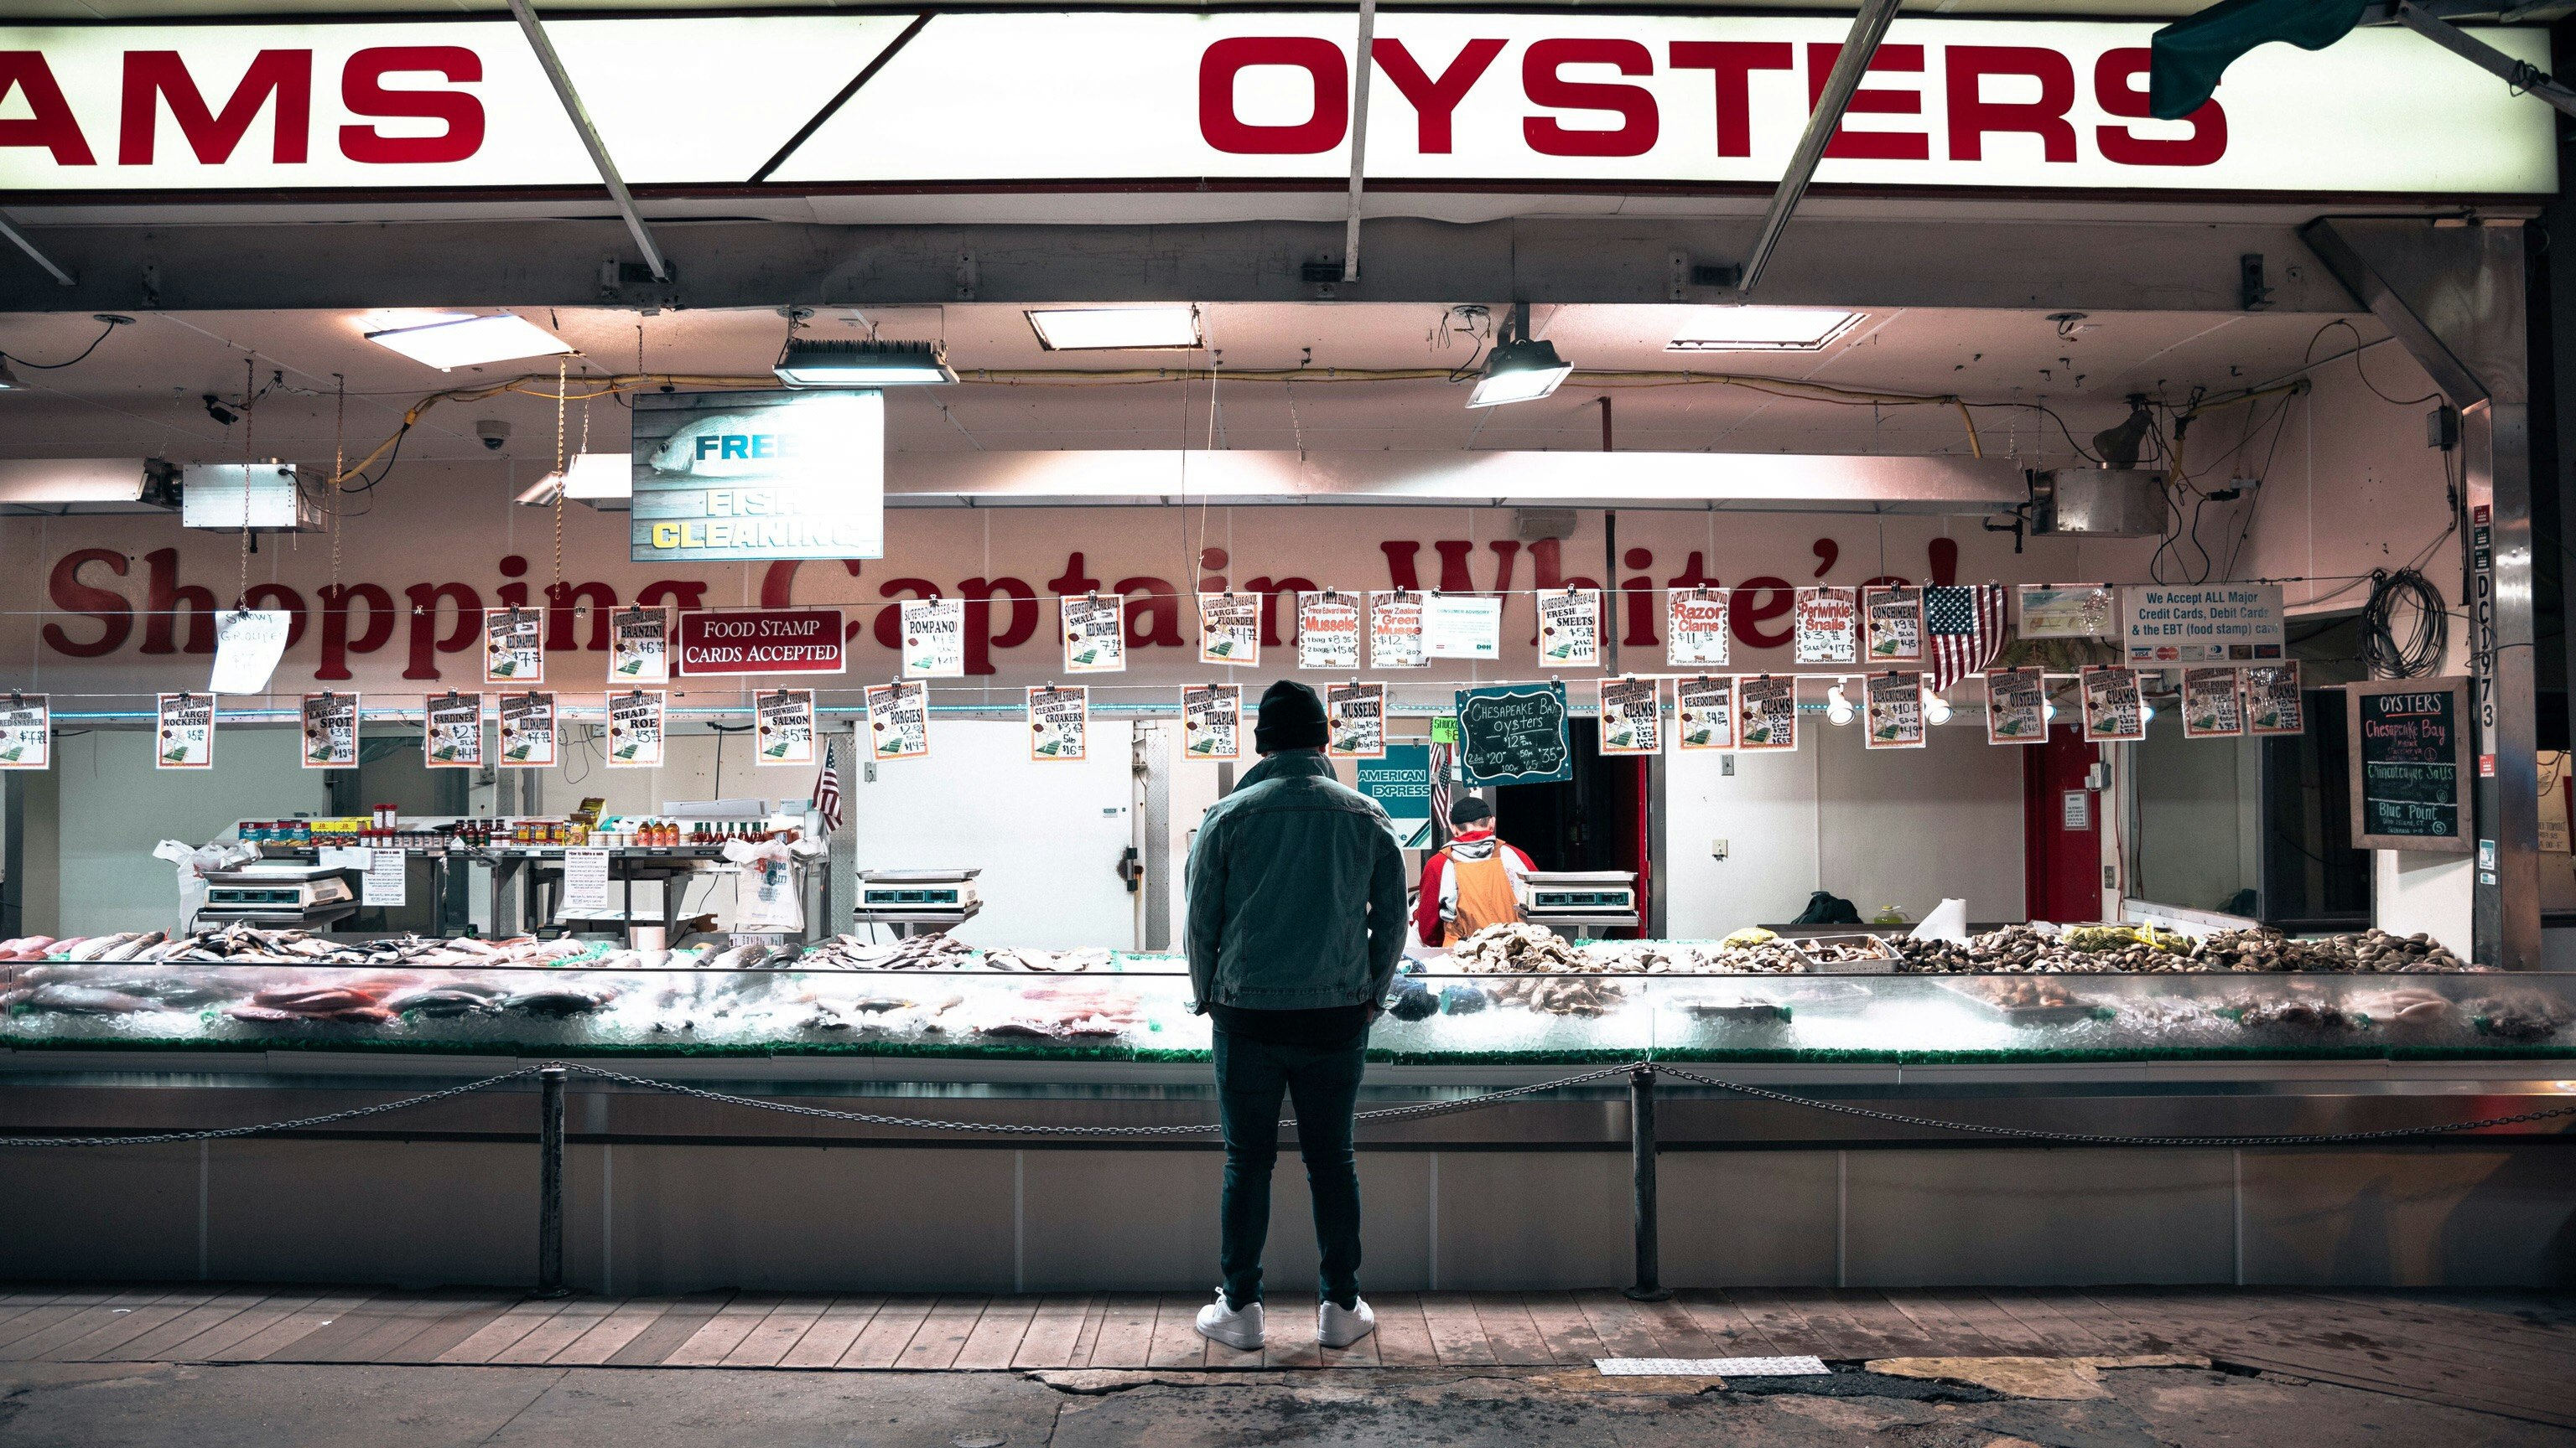
[[[1324,1255],[1316,1337],[1347,1348],[1376,1327],[1360,1301],[1350,1136],[1368,1025],[1404,953],[1404,855],[1386,812],[1332,778],[1324,703],[1311,688],[1270,685],[1252,739],[1262,763],[1208,809],[1190,848],[1190,984],[1198,1010],[1216,1018],[1226,1129],[1226,1286],[1198,1311],[1198,1329],[1229,1348],[1262,1345],[1262,1244],[1285,1095]]]

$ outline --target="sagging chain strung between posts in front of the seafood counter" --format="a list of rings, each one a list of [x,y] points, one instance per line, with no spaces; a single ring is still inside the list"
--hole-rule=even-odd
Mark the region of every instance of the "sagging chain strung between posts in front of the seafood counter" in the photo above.
[[[497,1077],[474,1080],[466,1085],[453,1085],[446,1090],[433,1090],[428,1095],[410,1095],[402,1100],[386,1100],[376,1105],[353,1105],[348,1110],[332,1110],[325,1116],[301,1116],[294,1121],[268,1121],[260,1126],[219,1126],[211,1131],[155,1131],[139,1136],[0,1136],[0,1147],[167,1147],[175,1141],[224,1141],[234,1136],[265,1136],[273,1131],[309,1131],[314,1126],[335,1126],[340,1121],[358,1121],[366,1116],[384,1116],[389,1110],[410,1110],[415,1105],[430,1105],[435,1100],[451,1100],[459,1095],[471,1095],[479,1090],[497,1087],[502,1082],[528,1080],[544,1074],[546,1069],[562,1069],[569,1074],[613,1082],[623,1087],[654,1090],[665,1095],[685,1095],[696,1100],[714,1100],[719,1105],[739,1105],[747,1110],[773,1110],[781,1116],[804,1116],[814,1121],[850,1121],[855,1126],[894,1126],[904,1131],[971,1131],[987,1136],[1069,1136],[1069,1139],[1126,1139],[1126,1136],[1211,1136],[1224,1126],[1216,1121],[1195,1121],[1180,1126],[1025,1126],[1010,1121],[953,1121],[935,1116],[884,1116],[873,1110],[832,1110],[824,1105],[801,1105],[791,1100],[760,1100],[750,1095],[732,1095],[721,1090],[706,1090],[680,1082],[662,1082],[652,1077],[634,1077],[626,1072],[611,1072],[605,1067],[590,1067],[582,1062],[549,1062],[541,1067],[520,1067],[515,1072],[502,1072]],[[1826,1110],[1834,1116],[1852,1116],[1860,1121],[1878,1121],[1886,1126],[1919,1126],[1929,1131],[1960,1131],[1971,1136],[2004,1136],[2014,1141],[2056,1141],[2069,1147],[2347,1147],[2357,1141],[2403,1141],[2419,1136],[2447,1136],[2455,1131],[2486,1131],[2491,1126],[2524,1126],[2532,1121],[2555,1121],[2563,1116],[2576,1116],[2576,1105],[2558,1105],[2548,1110],[2522,1110],[2514,1116],[2486,1116],[2478,1121],[2445,1121],[2437,1126],[2396,1126],[2385,1131],[2316,1131],[2295,1136],[2110,1136],[2094,1131],[2040,1131],[2030,1126],[1989,1126],[1978,1121],[1940,1121],[1932,1116],[1906,1116],[1901,1110],[1878,1110],[1870,1105],[1852,1105],[1842,1100],[1821,1100],[1811,1095],[1793,1095],[1785,1090],[1770,1090],[1744,1082],[1731,1082],[1721,1077],[1708,1077],[1682,1067],[1656,1064],[1656,1062],[1628,1062],[1620,1067],[1602,1067],[1597,1072],[1584,1072],[1577,1077],[1558,1077],[1548,1082],[1489,1090],[1479,1095],[1463,1095],[1453,1100],[1425,1100],[1417,1105],[1391,1105],[1381,1110],[1360,1110],[1352,1123],[1386,1123],[1386,1121],[1422,1121],[1430,1116],[1450,1116],[1455,1110],[1479,1110],[1504,1100],[1520,1100],[1528,1095],[1540,1095],[1551,1090],[1566,1090],[1579,1085],[1592,1085],[1613,1077],[1631,1077],[1636,1072],[1674,1077],[1705,1087],[1716,1087],[1734,1095],[1747,1095],[1754,1100],[1767,1100],[1775,1105],[1803,1105],[1808,1110]],[[1280,1126],[1296,1126],[1293,1116],[1283,1116]]]

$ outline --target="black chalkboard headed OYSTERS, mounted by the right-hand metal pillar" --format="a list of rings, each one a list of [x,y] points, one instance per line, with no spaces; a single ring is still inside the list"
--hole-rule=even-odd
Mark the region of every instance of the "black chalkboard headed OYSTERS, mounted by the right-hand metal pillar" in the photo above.
[[[2352,843],[2362,850],[2470,850],[2468,680],[2347,685]]]

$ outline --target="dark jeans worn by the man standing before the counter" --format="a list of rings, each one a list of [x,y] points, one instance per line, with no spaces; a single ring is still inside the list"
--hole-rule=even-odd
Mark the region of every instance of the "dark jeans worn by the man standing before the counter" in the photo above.
[[[1296,1141],[1314,1190],[1314,1239],[1324,1252],[1319,1291],[1360,1301],[1360,1167],[1350,1154],[1350,1116],[1360,1103],[1368,1033],[1347,1046],[1273,1046],[1216,1033],[1216,1100],[1226,1126],[1226,1196],[1216,1262],[1226,1306],[1262,1301],[1262,1244],[1270,1239],[1270,1170],[1280,1157],[1280,1095],[1296,1103]]]

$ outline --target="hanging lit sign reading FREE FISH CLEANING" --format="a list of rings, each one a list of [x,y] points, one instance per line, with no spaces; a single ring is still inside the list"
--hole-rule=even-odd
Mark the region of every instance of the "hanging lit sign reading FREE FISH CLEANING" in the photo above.
[[[639,392],[631,554],[886,557],[886,394]]]

